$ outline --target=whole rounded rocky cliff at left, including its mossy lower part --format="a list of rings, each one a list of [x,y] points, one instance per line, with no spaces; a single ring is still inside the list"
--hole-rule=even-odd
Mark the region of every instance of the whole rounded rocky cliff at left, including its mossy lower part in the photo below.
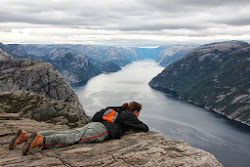
[[[75,126],[89,121],[71,86],[50,63],[38,59],[0,61],[0,93],[2,112],[43,121],[46,115],[47,120],[63,116],[65,124]]]

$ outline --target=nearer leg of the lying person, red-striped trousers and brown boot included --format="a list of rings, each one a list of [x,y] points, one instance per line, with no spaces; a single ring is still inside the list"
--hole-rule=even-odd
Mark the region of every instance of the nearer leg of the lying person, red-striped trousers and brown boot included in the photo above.
[[[41,146],[40,149],[58,148],[77,143],[101,142],[108,138],[108,130],[100,122],[91,122],[82,128],[62,132],[45,137],[37,132],[33,133],[24,146],[23,154],[26,155],[37,146]]]

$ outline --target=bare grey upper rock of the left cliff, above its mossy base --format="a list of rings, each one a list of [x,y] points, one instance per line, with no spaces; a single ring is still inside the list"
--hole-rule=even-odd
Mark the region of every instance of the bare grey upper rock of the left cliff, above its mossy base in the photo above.
[[[71,86],[50,64],[38,59],[0,61],[0,92],[31,91],[60,100],[84,114]]]

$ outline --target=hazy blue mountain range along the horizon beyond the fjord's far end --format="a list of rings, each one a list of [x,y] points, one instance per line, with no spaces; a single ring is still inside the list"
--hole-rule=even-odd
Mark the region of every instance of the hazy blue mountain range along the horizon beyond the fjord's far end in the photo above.
[[[189,45],[170,45],[158,48],[124,48],[114,46],[92,46],[92,45],[24,45],[25,50],[30,57],[38,57],[45,60],[49,57],[50,52],[57,48],[71,49],[84,54],[89,60],[97,61],[98,63],[112,62],[118,66],[124,66],[132,61],[153,59],[159,62],[162,66],[167,66],[172,62],[180,59],[184,53],[194,48]]]

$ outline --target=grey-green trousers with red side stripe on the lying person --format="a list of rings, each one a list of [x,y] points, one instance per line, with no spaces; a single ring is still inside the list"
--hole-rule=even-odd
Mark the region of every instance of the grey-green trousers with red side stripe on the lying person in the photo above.
[[[108,138],[108,130],[100,122],[91,122],[78,129],[46,130],[38,133],[45,137],[44,148],[58,148],[77,143],[98,143]]]

